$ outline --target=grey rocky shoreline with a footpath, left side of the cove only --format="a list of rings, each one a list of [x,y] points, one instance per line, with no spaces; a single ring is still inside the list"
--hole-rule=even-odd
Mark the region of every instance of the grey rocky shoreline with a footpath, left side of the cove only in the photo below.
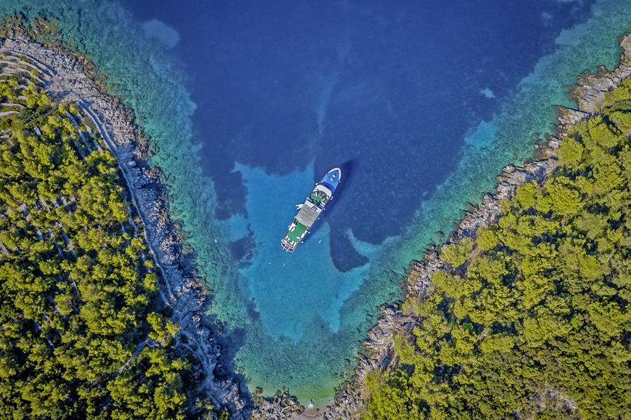
[[[202,323],[205,289],[179,252],[177,230],[168,213],[167,190],[161,183],[159,169],[148,167],[142,159],[146,141],[133,123],[132,113],[119,100],[102,92],[81,57],[60,47],[44,47],[27,34],[13,31],[12,35],[0,38],[3,66],[20,60],[20,65],[36,71],[39,83],[55,103],[79,104],[89,125],[116,156],[133,204],[132,214],[142,221],[151,256],[162,274],[163,298],[172,307],[173,321],[179,323],[188,344],[182,342],[182,337],[179,342],[200,361],[205,372],[204,386],[215,399],[215,406],[227,409],[231,419],[249,418],[252,401],[242,392],[238,378],[229,374],[215,376],[217,370],[229,369],[222,367],[222,348]]]

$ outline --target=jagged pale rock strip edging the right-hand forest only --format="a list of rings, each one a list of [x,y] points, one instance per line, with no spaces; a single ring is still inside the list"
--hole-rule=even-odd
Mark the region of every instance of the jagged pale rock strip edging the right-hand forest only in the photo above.
[[[536,160],[527,162],[523,167],[506,166],[497,176],[498,186],[493,194],[485,194],[482,204],[470,209],[456,230],[449,235],[449,242],[458,241],[463,237],[475,237],[477,229],[483,225],[490,225],[497,221],[500,214],[501,200],[515,195],[518,186],[530,181],[543,183],[557,167],[556,153],[561,144],[562,134],[567,127],[599,113],[604,104],[604,95],[618,86],[621,80],[631,76],[631,34],[620,38],[623,53],[620,64],[613,71],[599,68],[597,73],[585,72],[577,78],[577,84],[571,88],[569,94],[578,104],[577,109],[562,106],[559,110],[559,124],[555,135],[548,137],[546,144],[535,145]],[[410,264],[405,288],[406,298],[423,299],[427,296],[431,285],[431,275],[442,268],[444,263],[438,256],[435,247],[430,248],[422,260],[414,260]],[[350,382],[337,389],[335,403],[327,407],[318,416],[326,420],[358,419],[365,408],[367,388],[366,375],[387,369],[395,360],[393,337],[402,332],[409,332],[418,320],[414,316],[406,316],[398,303],[383,305],[382,316],[377,324],[368,332],[368,339],[364,343],[365,354],[358,357],[358,367]],[[273,411],[270,409],[270,412]],[[278,410],[276,410],[278,412]],[[302,416],[276,416],[276,419],[301,419]]]

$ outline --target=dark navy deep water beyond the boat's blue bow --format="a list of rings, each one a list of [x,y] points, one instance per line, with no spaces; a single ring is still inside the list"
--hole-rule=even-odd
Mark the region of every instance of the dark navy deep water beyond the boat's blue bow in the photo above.
[[[216,214],[245,206],[234,162],[314,179],[348,167],[327,222],[346,271],[366,262],[346,235],[400,235],[496,111],[591,1],[133,1],[173,27],[191,77],[196,140]],[[495,98],[480,91],[489,89]],[[304,187],[308,190],[308,186]],[[369,199],[365,197],[369,195]],[[240,256],[243,250],[236,253]]]

